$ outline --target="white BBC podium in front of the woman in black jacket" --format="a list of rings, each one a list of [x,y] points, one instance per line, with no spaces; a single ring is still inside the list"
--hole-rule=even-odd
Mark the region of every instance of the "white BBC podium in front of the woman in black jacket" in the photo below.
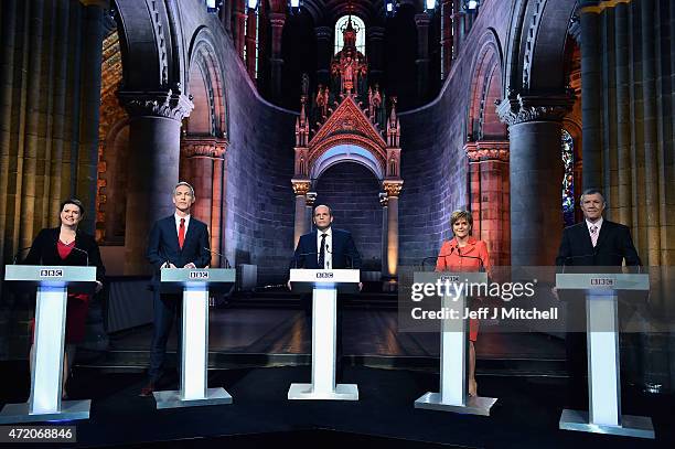
[[[90,399],[61,400],[67,293],[93,293],[96,267],[8,265],[4,280],[22,291],[38,289],[31,361],[31,397],[8,404],[0,424],[88,419]]]

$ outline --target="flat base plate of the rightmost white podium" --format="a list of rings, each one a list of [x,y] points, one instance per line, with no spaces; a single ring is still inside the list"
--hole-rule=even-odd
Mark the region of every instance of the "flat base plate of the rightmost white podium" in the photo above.
[[[558,428],[562,430],[588,431],[591,434],[621,435],[624,437],[654,439],[652,418],[647,416],[621,415],[621,426],[591,424],[588,421],[588,411],[562,410]]]

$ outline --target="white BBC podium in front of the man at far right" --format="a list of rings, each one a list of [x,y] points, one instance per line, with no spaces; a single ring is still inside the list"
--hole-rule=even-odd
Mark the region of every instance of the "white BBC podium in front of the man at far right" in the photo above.
[[[558,290],[586,292],[589,410],[564,409],[565,430],[654,438],[652,419],[621,415],[618,291],[649,291],[649,275],[558,274]]]

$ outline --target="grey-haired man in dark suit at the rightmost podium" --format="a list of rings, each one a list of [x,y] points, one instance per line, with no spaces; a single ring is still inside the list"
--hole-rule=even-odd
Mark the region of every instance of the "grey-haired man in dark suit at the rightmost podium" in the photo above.
[[[625,260],[629,267],[640,266],[640,257],[628,226],[602,218],[606,201],[602,193],[589,189],[580,197],[583,222],[567,227],[556,265],[567,272],[621,271]],[[566,336],[567,371],[569,375],[570,405],[588,404],[586,333],[586,301],[582,295],[567,292]]]

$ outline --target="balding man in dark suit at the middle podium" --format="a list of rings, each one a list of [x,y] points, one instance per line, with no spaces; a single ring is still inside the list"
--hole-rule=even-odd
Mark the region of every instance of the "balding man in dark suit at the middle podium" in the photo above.
[[[335,229],[333,223],[333,211],[326,205],[314,207],[313,222],[317,231],[304,234],[298,240],[296,254],[293,255],[293,268],[308,269],[361,269],[361,255],[356,249],[352,234],[347,231]],[[290,281],[288,282],[290,288]],[[358,289],[363,285],[358,284]],[[304,308],[306,322],[311,329],[312,297],[304,295],[301,298]],[[342,377],[342,307],[338,301],[338,344],[335,354],[336,378]]]

